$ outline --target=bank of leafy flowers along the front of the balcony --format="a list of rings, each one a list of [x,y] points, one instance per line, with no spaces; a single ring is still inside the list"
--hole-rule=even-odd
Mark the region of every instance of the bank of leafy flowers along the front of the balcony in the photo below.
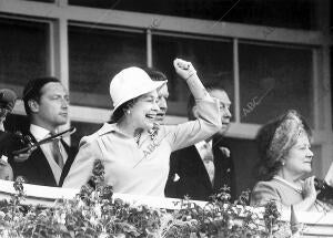
[[[59,199],[52,207],[22,205],[23,179],[13,186],[10,200],[0,203],[1,237],[50,238],[214,238],[214,237],[292,237],[289,224],[279,220],[274,203],[269,203],[263,220],[246,207],[249,192],[235,203],[229,188],[214,195],[204,207],[189,198],[179,201],[180,209],[165,210],[145,205],[133,206],[114,199],[112,187],[104,185],[104,168],[95,161],[92,177],[69,200]]]

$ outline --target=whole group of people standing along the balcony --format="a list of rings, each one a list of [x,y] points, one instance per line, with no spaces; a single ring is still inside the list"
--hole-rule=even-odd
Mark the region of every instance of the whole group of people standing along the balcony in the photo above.
[[[115,193],[209,200],[223,187],[236,196],[232,153],[223,136],[232,117],[228,92],[220,84],[203,85],[190,62],[175,59],[174,70],[191,92],[185,123],[165,125],[168,79],[153,69],[131,66],[110,82],[113,111],[109,122],[83,136],[79,151],[50,139],[69,121],[69,92],[57,77],[38,77],[24,86],[22,100],[30,122],[22,134],[6,132],[3,122],[17,94],[0,90],[0,178],[23,176],[30,184],[80,188],[92,175],[95,159]],[[258,184],[251,205],[270,200],[282,208],[329,210],[316,199],[312,172],[311,130],[296,111],[269,122],[258,133]],[[33,149],[13,153],[28,144]]]

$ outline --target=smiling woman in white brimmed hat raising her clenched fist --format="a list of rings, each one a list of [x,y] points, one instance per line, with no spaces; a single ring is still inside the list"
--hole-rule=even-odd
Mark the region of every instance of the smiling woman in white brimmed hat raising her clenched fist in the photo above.
[[[101,159],[105,183],[115,193],[164,197],[171,152],[221,128],[219,103],[205,91],[192,64],[179,59],[173,64],[196,99],[200,117],[179,125],[157,124],[158,90],[167,81],[152,81],[140,68],[122,70],[110,83],[111,123],[81,139],[63,187],[80,188],[89,180],[94,161]]]

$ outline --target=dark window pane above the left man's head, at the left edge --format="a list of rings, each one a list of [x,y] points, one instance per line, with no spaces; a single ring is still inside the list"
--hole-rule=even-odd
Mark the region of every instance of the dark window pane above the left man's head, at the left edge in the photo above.
[[[49,24],[0,18],[0,86],[49,73]]]

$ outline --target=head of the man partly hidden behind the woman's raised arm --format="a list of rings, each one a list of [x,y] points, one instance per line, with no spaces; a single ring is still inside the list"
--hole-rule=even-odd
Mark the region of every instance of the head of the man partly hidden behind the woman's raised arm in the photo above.
[[[222,127],[219,134],[223,135],[230,126],[230,118],[232,116],[230,113],[231,101],[225,90],[220,85],[215,85],[215,84],[206,85],[206,90],[212,97],[218,99],[220,102]],[[190,121],[193,121],[198,116],[199,116],[199,112],[195,105],[195,100],[191,95],[188,102],[188,117]]]

